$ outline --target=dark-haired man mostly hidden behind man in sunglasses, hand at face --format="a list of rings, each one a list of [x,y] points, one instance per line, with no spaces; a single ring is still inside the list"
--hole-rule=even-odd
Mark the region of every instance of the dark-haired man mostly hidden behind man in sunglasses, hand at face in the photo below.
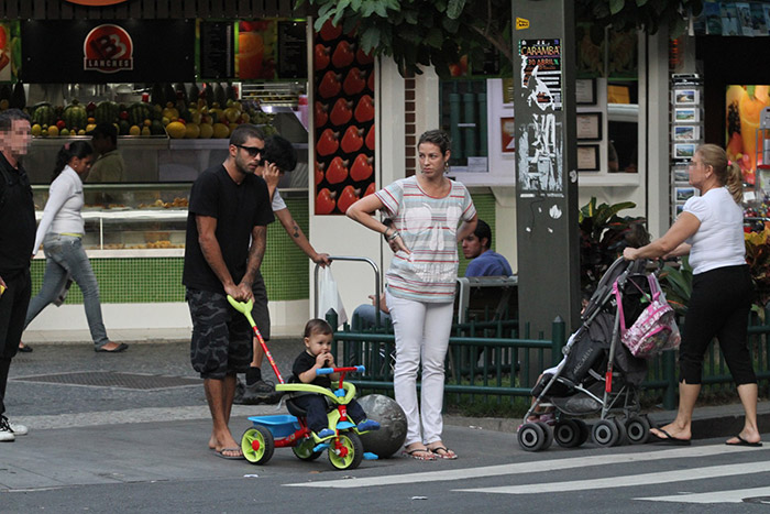
[[[262,163],[256,168],[256,175],[267,183],[273,214],[286,230],[292,241],[310,258],[312,262],[321,266],[329,264],[329,254],[318,253],[308,238],[299,228],[289,212],[286,203],[278,193],[278,182],[286,172],[292,172],[297,166],[297,151],[290,141],[280,135],[272,135],[265,141],[265,153]],[[270,311],[267,310],[267,291],[262,275],[257,274],[254,281],[254,320],[260,328],[260,332],[265,341],[270,340]],[[245,386],[239,382],[235,390],[237,404],[256,405],[260,403],[276,403],[280,400],[280,394],[275,392],[274,384],[262,379],[262,360],[264,352],[262,346],[254,338],[254,359],[246,371]]]

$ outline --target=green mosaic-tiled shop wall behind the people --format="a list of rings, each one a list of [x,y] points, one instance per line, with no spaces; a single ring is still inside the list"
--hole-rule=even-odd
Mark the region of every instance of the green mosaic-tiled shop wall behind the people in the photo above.
[[[299,227],[308,231],[308,204],[305,198],[285,198],[292,216]],[[492,193],[473,195],[479,217],[492,227],[492,248],[495,248],[495,197]],[[465,274],[468,262],[459,249],[460,271]],[[267,284],[271,300],[304,299],[310,296],[309,261],[305,253],[289,239],[276,219],[267,228],[267,250],[262,263],[262,273]],[[182,258],[152,259],[91,259],[94,273],[99,282],[101,302],[106,304],[184,302],[182,285]],[[40,291],[45,262],[32,262],[32,292]],[[73,284],[67,304],[82,303],[82,294]]]

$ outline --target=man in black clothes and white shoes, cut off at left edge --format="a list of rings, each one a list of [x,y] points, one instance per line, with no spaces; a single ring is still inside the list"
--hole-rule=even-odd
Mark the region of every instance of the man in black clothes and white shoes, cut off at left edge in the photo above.
[[[30,118],[19,109],[0,112],[0,441],[28,428],[6,417],[6,385],[30,304],[30,260],[35,253],[35,205],[21,158],[32,136]]]

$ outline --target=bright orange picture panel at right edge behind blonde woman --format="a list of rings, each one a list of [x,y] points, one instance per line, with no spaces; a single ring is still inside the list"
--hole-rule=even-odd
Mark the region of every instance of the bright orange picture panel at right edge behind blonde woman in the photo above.
[[[761,162],[761,150],[757,146],[757,129],[762,109],[770,107],[770,86],[729,86],[726,98],[727,158],[738,163],[744,182],[755,183],[757,165]],[[759,150],[759,158],[757,154]],[[770,164],[770,163],[765,163]]]

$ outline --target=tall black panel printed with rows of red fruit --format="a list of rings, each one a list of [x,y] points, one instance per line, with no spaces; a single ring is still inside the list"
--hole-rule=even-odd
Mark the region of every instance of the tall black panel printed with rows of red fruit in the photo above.
[[[314,37],[316,215],[374,193],[374,59],[327,22]]]

